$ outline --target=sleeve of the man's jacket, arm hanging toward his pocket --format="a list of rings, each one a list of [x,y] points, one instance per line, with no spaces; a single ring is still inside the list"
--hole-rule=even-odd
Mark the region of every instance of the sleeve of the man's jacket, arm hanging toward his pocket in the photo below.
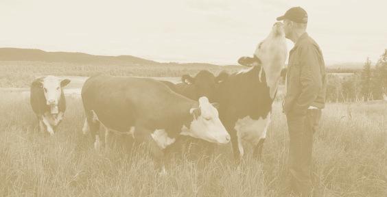
[[[322,88],[322,75],[318,51],[312,46],[305,46],[300,53],[300,83],[301,92],[293,109],[297,114],[304,114],[307,108],[316,100]]]

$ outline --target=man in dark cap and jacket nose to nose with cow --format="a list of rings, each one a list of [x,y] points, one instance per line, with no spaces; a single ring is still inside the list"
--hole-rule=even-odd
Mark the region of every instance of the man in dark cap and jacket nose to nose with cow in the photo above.
[[[325,64],[320,47],[306,32],[307,12],[303,8],[290,8],[277,21],[283,21],[285,38],[294,42],[283,101],[290,136],[290,187],[298,196],[312,196],[313,134],[325,107]]]

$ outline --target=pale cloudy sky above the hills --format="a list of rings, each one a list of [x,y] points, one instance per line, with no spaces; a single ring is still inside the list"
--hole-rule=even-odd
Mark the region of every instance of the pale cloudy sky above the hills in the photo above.
[[[0,47],[237,64],[293,6],[327,64],[387,49],[387,1],[375,0],[0,0]]]

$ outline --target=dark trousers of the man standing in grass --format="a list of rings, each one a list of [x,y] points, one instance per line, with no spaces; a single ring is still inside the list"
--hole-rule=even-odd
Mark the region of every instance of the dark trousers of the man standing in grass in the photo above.
[[[290,187],[298,196],[312,196],[313,134],[318,129],[321,109],[307,109],[302,115],[290,113],[286,118],[290,136]]]

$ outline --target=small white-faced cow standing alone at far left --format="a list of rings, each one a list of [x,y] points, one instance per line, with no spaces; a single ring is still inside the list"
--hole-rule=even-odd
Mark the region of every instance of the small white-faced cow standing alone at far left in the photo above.
[[[35,79],[31,83],[30,103],[39,121],[41,133],[47,131],[54,135],[66,111],[66,99],[63,87],[70,79],[59,79],[48,75]]]

